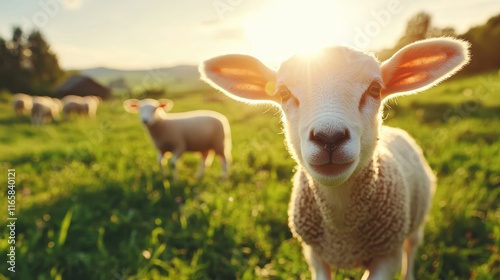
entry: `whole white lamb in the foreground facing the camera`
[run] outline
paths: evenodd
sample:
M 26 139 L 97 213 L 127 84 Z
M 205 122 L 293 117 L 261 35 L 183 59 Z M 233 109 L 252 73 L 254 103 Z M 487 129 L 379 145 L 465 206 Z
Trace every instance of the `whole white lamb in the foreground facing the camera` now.
M 202 79 L 228 96 L 281 108 L 299 165 L 289 226 L 314 279 L 330 279 L 330 266 L 364 267 L 363 279 L 392 279 L 402 264 L 404 278 L 413 278 L 435 177 L 406 132 L 381 126 L 382 105 L 453 75 L 468 62 L 468 46 L 423 40 L 383 63 L 331 47 L 294 56 L 278 71 L 246 55 L 200 66 Z

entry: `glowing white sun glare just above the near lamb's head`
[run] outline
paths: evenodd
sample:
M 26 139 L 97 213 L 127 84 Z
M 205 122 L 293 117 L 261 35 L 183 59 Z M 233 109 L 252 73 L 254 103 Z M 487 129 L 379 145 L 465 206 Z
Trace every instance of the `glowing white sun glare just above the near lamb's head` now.
M 323 1 L 320 6 L 304 2 L 276 1 L 245 20 L 252 55 L 276 63 L 293 54 L 315 53 L 342 43 L 340 26 L 345 26 L 346 15 L 335 7 L 338 3 Z

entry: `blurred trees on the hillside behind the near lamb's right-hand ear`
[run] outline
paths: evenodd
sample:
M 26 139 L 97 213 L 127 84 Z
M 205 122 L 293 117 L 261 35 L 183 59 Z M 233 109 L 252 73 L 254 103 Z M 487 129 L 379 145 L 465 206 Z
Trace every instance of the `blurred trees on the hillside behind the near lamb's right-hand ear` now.
M 461 38 L 472 44 L 472 60 L 459 72 L 459 75 L 500 69 L 500 15 L 492 17 L 485 24 L 472 27 L 460 35 L 456 34 L 452 27 L 438 28 L 433 26 L 431 16 L 420 12 L 408 21 L 404 35 L 396 45 L 393 48 L 379 51 L 377 55 L 381 61 L 384 61 L 407 44 L 441 36 Z

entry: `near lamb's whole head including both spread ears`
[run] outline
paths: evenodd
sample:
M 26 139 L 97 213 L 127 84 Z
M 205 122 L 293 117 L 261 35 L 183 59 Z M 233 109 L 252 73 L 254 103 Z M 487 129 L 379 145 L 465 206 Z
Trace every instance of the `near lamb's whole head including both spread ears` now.
M 467 48 L 453 39 L 424 40 L 380 64 L 362 52 L 332 47 L 294 56 L 277 72 L 253 57 L 226 55 L 204 62 L 200 72 L 230 97 L 278 105 L 295 159 L 319 183 L 336 186 L 372 158 L 384 100 L 448 78 L 467 63 Z

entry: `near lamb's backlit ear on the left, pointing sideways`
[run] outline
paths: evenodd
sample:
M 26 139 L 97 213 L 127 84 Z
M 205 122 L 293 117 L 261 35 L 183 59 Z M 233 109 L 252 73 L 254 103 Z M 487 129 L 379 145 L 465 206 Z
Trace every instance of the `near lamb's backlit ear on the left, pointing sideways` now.
M 248 55 L 224 55 L 200 64 L 201 79 L 229 97 L 245 102 L 273 101 L 276 71 Z

